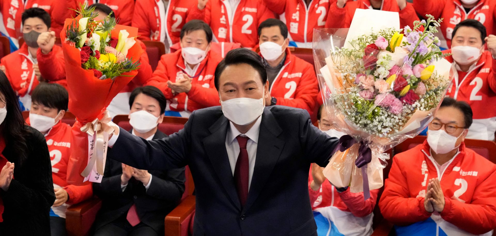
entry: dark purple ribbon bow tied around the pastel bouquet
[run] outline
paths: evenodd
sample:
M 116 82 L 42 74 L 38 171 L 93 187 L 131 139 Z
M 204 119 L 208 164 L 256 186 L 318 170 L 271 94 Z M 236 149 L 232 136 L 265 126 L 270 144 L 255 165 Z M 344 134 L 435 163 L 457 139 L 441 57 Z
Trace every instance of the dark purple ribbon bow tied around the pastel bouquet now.
M 351 148 L 354 144 L 358 143 L 350 135 L 343 135 L 339 138 L 339 151 L 344 152 L 348 148 Z M 367 175 L 367 164 L 372 161 L 372 150 L 369 147 L 368 143 L 364 141 L 360 141 L 360 148 L 358 149 L 358 158 L 355 160 L 355 166 L 362 170 L 362 178 L 364 182 L 364 199 L 367 200 L 371 197 L 370 189 L 369 189 L 369 176 Z

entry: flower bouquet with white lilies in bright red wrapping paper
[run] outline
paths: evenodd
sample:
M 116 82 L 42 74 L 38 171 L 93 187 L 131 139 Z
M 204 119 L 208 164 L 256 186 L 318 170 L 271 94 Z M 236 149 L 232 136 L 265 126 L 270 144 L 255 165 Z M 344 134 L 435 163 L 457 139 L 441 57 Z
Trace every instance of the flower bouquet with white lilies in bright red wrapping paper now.
M 79 15 L 66 19 L 61 32 L 68 108 L 76 117 L 67 164 L 67 183 L 74 185 L 101 182 L 108 138 L 119 132 L 106 108 L 137 74 L 143 53 L 134 41 L 137 28 L 111 17 L 96 21 L 93 11 L 79 5 Z

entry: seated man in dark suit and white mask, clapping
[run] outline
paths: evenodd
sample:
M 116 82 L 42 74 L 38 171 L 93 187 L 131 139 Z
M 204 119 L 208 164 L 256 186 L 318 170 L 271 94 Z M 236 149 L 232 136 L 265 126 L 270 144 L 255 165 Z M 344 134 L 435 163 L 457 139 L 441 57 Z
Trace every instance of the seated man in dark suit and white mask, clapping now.
M 153 86 L 134 89 L 129 98 L 133 128 L 126 134 L 144 140 L 167 138 L 158 130 L 166 103 L 162 92 Z M 184 190 L 184 167 L 148 172 L 107 159 L 102 182 L 93 185 L 103 200 L 95 236 L 163 235 L 164 218 L 178 205 Z

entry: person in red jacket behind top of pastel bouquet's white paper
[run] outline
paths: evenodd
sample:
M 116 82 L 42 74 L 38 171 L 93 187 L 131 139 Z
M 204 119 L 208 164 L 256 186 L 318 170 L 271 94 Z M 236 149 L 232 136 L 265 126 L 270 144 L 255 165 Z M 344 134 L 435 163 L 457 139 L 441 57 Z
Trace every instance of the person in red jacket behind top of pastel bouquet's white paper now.
M 329 7 L 325 28 L 349 28 L 357 9 L 398 12 L 401 28 L 407 25 L 413 27 L 413 22 L 419 20 L 412 3 L 406 0 L 337 0 Z

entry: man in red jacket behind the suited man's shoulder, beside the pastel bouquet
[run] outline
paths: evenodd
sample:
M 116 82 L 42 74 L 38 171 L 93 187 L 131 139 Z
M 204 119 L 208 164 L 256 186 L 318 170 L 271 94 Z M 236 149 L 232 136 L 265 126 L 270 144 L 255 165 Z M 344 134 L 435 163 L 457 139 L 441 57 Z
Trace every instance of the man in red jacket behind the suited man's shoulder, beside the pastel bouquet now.
M 278 19 L 258 26 L 259 55 L 265 60 L 270 96 L 265 106 L 282 105 L 305 109 L 310 116 L 316 104 L 318 82 L 313 66 L 288 49 L 288 27 Z

